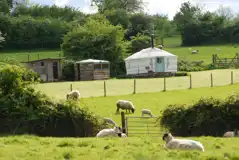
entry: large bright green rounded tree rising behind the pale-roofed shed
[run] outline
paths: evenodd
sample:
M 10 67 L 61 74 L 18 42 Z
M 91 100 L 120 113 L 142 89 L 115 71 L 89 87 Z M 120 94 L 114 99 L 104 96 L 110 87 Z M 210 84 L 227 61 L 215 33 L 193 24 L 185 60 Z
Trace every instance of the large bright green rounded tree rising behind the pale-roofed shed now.
M 123 30 L 103 16 L 89 18 L 84 26 L 68 32 L 61 45 L 65 56 L 115 61 L 122 55 Z

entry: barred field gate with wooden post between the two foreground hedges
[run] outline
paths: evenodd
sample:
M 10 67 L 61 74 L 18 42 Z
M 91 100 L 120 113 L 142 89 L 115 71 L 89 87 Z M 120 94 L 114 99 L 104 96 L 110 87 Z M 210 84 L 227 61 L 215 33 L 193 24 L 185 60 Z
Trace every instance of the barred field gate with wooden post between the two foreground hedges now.
M 125 113 L 121 112 L 121 124 L 123 132 L 130 137 L 145 135 L 159 137 L 162 135 L 157 124 L 157 117 L 125 116 Z

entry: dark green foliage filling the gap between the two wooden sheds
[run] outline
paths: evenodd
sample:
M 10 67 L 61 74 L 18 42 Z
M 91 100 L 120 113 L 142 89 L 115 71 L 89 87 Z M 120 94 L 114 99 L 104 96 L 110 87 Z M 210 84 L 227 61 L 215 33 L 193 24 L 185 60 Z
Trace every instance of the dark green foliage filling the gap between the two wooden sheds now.
M 62 76 L 64 80 L 73 81 L 75 79 L 75 61 L 64 60 L 62 67 Z

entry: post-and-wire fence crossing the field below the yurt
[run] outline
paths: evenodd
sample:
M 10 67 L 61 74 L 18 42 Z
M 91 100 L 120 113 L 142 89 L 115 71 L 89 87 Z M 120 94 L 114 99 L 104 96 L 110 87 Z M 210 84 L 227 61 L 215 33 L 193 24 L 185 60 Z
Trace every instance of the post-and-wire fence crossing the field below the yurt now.
M 239 82 L 239 70 L 192 72 L 188 76 L 76 81 L 70 90 L 80 90 L 82 97 L 127 95 L 147 92 L 167 92 L 201 87 L 232 85 Z M 68 83 L 69 84 L 69 83 Z M 68 90 L 69 91 L 69 90 Z

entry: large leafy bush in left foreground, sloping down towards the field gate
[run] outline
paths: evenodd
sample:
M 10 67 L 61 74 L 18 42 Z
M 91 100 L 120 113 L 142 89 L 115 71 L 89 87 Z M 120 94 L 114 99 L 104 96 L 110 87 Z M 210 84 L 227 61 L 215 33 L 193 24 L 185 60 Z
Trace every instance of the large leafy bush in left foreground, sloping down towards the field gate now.
M 0 133 L 39 136 L 95 136 L 101 118 L 77 102 L 54 102 L 35 91 L 32 71 L 17 65 L 0 68 Z

